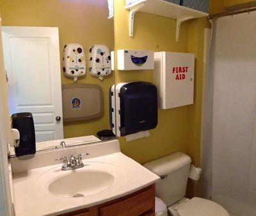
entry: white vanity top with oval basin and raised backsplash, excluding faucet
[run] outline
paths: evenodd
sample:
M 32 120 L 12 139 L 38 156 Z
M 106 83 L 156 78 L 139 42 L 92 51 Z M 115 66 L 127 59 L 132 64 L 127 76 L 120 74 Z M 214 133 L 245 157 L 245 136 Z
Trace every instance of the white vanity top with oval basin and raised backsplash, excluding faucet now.
M 88 152 L 84 167 L 61 170 L 59 157 Z M 154 184 L 159 176 L 120 152 L 118 140 L 91 143 L 12 162 L 15 215 L 61 215 L 106 203 Z

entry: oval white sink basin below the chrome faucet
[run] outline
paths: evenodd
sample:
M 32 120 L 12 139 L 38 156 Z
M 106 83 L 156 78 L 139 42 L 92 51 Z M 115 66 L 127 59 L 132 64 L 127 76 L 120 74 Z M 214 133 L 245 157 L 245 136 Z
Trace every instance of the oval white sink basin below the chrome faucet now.
M 113 175 L 103 171 L 83 170 L 60 176 L 49 185 L 49 191 L 64 198 L 81 198 L 102 192 L 113 184 Z

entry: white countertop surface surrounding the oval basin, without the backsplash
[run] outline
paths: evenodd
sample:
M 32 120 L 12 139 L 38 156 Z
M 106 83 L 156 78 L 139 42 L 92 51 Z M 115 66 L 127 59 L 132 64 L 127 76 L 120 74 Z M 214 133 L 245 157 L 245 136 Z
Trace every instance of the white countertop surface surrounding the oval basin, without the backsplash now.
M 98 164 L 97 166 L 100 166 L 99 164 L 102 162 L 102 168 L 104 168 L 104 164 L 111 164 L 111 166 L 106 166 L 106 169 L 109 169 L 106 171 L 116 176 L 114 183 L 105 191 L 92 196 L 63 198 L 55 196 L 47 190 L 42 191 L 41 189 L 40 191 L 38 186 L 36 186 L 38 185 L 37 181 L 40 176 L 49 170 L 54 170 L 56 175 L 61 175 L 62 173 L 78 171 L 79 169 L 90 169 L 90 166 L 86 167 L 85 165 L 84 168 L 62 171 L 61 164 L 54 164 L 52 166 L 42 166 L 40 168 L 19 171 L 13 173 L 15 215 L 39 216 L 72 212 L 131 194 L 159 180 L 159 176 L 148 171 L 148 169 L 121 152 L 84 159 L 83 162 L 84 164 Z M 40 181 L 42 182 L 42 178 Z M 48 184 L 47 181 L 49 182 L 48 177 L 45 178 L 46 185 Z

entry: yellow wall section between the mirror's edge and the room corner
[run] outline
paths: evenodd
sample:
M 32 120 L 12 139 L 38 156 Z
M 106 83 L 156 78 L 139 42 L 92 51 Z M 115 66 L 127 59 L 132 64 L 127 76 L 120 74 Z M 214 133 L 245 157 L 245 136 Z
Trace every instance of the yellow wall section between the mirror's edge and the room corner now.
M 134 37 L 129 37 L 129 12 L 124 1 L 115 1 L 115 51 L 144 49 L 154 51 L 188 52 L 187 25 L 182 24 L 180 41 L 175 42 L 175 20 L 147 13 L 136 13 Z M 116 83 L 131 80 L 153 82 L 153 71 L 115 71 Z M 120 138 L 121 150 L 141 164 L 178 150 L 187 152 L 188 107 L 159 110 L 158 125 L 150 136 L 126 142 Z

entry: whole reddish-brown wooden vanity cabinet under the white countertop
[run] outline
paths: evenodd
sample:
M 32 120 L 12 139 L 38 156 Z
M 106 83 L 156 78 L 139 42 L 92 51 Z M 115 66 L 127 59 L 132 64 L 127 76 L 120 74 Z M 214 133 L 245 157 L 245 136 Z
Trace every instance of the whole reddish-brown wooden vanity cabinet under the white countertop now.
M 155 185 L 145 187 L 122 198 L 61 216 L 154 216 Z

